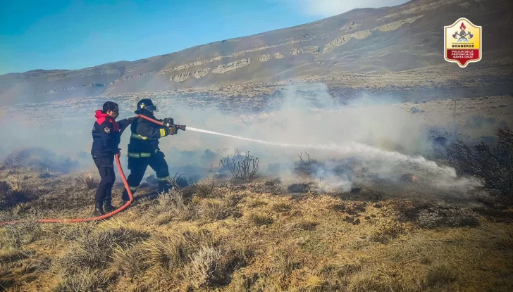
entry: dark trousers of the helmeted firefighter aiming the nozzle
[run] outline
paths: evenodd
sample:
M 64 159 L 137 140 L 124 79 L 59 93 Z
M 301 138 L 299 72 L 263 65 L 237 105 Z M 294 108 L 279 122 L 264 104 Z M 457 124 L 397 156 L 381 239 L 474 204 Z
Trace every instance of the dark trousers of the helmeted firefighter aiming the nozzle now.
M 168 163 L 164 159 L 164 153 L 158 151 L 157 153 L 152 154 L 148 158 L 132 158 L 128 157 L 128 169 L 130 170 L 130 175 L 126 179 L 128 182 L 128 186 L 130 186 L 130 191 L 135 193 L 137 191 L 137 187 L 142 181 L 142 177 L 144 177 L 144 172 L 146 172 L 146 168 L 152 167 L 152 169 L 156 172 L 156 179 L 159 181 L 159 192 L 168 191 L 171 189 L 171 186 L 168 183 L 169 179 L 169 167 Z M 123 201 L 128 201 L 130 198 L 128 197 L 128 191 L 123 191 Z

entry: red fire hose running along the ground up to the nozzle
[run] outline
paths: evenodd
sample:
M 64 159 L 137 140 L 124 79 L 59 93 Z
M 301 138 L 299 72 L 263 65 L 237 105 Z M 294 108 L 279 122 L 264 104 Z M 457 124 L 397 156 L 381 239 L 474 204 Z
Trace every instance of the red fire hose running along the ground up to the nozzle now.
M 157 125 L 163 125 L 162 122 L 159 122 L 158 120 L 154 120 L 152 118 L 148 118 L 144 115 L 136 115 L 134 118 L 143 118 L 144 120 L 149 120 L 150 122 L 154 122 Z M 127 125 L 128 126 L 128 125 Z M 123 132 L 125 128 L 121 129 L 120 132 Z M 121 164 L 119 162 L 119 155 L 115 155 L 114 158 L 116 158 L 116 165 L 118 165 L 118 170 L 121 179 L 123 179 L 123 184 L 125 184 L 125 189 L 128 191 L 128 197 L 130 198 L 130 201 L 125 203 L 125 205 L 122 205 L 120 208 L 113 210 L 110 213 L 107 213 L 105 215 L 101 215 L 99 217 L 90 217 L 90 218 L 79 218 L 79 219 L 36 219 L 35 222 L 40 223 L 78 223 L 78 222 L 89 222 L 89 221 L 96 221 L 96 220 L 103 220 L 105 218 L 109 218 L 113 215 L 118 214 L 118 212 L 121 212 L 128 208 L 128 206 L 134 201 L 134 197 L 132 195 L 132 191 L 130 191 L 130 186 L 128 186 L 128 182 L 126 181 L 125 173 L 123 172 L 123 168 L 121 168 Z M 7 224 L 16 224 L 16 223 L 23 223 L 27 222 L 27 220 L 13 220 L 13 221 L 5 221 L 0 222 L 0 226 L 7 225 Z

